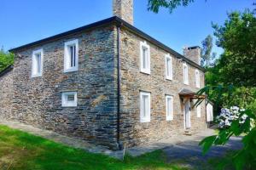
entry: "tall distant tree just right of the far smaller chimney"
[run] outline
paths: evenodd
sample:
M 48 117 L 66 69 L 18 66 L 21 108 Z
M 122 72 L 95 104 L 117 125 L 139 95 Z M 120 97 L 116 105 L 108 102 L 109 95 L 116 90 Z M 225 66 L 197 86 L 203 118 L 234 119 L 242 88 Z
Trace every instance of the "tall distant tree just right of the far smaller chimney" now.
M 208 67 L 212 59 L 215 59 L 216 53 L 212 53 L 212 36 L 208 35 L 202 42 L 201 65 Z

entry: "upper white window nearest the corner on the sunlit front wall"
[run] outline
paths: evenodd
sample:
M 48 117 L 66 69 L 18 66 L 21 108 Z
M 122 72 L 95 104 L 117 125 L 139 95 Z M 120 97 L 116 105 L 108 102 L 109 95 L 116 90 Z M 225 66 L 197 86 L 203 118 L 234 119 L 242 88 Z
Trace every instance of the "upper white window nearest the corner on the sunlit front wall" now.
M 150 48 L 147 42 L 141 42 L 141 71 L 150 74 Z

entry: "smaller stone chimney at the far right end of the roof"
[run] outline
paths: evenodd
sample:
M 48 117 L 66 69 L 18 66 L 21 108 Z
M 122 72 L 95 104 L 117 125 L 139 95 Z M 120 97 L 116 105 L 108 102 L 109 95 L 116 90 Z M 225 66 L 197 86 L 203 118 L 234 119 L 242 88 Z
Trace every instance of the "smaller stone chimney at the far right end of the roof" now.
M 183 55 L 196 64 L 201 65 L 201 48 L 199 46 L 183 48 Z

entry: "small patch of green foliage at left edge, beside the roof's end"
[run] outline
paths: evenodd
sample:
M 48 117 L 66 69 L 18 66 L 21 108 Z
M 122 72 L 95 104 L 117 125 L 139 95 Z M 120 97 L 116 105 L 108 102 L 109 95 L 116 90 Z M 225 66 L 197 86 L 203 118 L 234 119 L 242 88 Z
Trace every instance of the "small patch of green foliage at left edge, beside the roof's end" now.
M 4 52 L 3 48 L 0 50 L 0 72 L 3 71 L 9 65 L 14 63 L 15 55 Z

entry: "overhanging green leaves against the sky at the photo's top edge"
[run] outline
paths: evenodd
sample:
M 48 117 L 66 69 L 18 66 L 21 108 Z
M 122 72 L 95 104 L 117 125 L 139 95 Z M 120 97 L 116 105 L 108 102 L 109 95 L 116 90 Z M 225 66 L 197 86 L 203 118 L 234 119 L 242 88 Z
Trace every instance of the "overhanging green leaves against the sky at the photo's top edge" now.
M 160 8 L 168 8 L 170 13 L 179 6 L 188 6 L 194 0 L 148 0 L 148 10 L 158 13 Z

